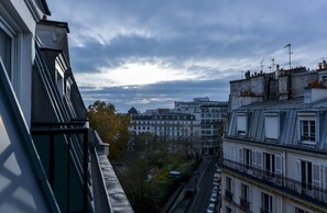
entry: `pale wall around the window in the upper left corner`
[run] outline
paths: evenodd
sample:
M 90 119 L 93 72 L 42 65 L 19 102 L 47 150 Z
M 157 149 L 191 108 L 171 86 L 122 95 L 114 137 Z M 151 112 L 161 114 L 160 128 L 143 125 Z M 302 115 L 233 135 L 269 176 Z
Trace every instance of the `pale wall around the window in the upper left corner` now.
M 29 4 L 29 7 L 28 7 Z M 3 0 L 0 2 L 1 29 L 12 36 L 11 82 L 24 113 L 31 124 L 31 85 L 34 60 L 34 41 L 36 21 L 43 15 L 34 8 L 34 1 Z

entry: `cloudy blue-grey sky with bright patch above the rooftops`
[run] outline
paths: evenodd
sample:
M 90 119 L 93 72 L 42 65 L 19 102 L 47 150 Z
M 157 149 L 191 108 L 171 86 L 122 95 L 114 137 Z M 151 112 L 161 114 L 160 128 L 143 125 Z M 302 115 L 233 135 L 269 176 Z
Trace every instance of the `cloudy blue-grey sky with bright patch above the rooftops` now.
M 72 68 L 86 105 L 126 112 L 197 97 L 228 100 L 229 81 L 314 69 L 327 58 L 326 0 L 47 0 L 69 24 Z

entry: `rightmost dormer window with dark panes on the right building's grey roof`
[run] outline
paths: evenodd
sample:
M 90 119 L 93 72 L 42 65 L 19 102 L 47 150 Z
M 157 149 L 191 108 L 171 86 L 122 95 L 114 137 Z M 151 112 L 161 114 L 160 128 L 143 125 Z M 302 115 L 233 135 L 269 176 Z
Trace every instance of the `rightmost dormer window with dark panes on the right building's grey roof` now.
M 299 141 L 303 144 L 315 145 L 317 142 L 317 122 L 315 113 L 298 113 Z

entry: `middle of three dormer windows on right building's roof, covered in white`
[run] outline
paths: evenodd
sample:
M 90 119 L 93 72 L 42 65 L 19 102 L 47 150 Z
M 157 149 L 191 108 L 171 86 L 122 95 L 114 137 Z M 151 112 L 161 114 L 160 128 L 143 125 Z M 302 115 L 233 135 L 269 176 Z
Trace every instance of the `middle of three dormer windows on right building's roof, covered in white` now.
M 276 113 L 265 113 L 264 114 L 264 132 L 265 137 L 271 139 L 279 138 L 279 116 Z

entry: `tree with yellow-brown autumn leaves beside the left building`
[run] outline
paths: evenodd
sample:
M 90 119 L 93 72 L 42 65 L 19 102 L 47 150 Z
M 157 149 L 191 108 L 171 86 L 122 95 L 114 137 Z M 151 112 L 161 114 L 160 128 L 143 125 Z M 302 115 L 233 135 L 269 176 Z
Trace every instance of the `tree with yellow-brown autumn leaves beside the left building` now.
M 110 144 L 111 159 L 127 150 L 130 116 L 117 114 L 113 104 L 96 101 L 88 107 L 90 126 L 98 132 L 105 143 Z

